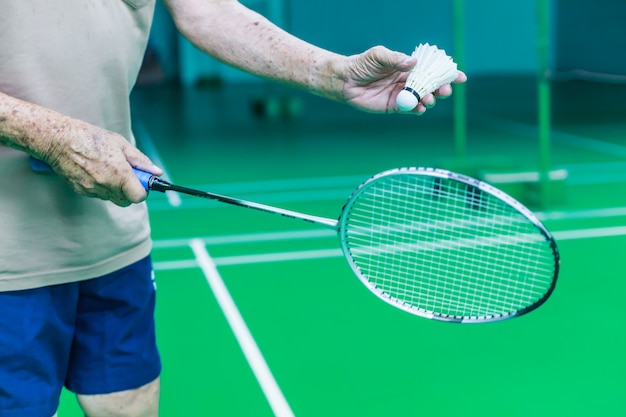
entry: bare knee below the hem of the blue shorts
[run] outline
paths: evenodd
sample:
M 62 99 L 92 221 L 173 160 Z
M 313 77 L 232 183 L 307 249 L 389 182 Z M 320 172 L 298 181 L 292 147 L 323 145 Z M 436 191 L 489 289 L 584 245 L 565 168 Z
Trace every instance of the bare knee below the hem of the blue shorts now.
M 99 395 L 78 395 L 88 417 L 157 417 L 160 379 L 128 391 Z

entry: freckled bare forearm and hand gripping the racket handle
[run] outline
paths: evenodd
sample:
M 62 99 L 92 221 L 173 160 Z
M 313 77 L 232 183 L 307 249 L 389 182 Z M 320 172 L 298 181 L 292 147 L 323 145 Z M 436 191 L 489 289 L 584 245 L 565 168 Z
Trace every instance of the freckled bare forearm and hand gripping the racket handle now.
M 131 166 L 161 173 L 121 135 L 1 92 L 0 145 L 47 162 L 79 194 L 120 206 L 147 196 Z

